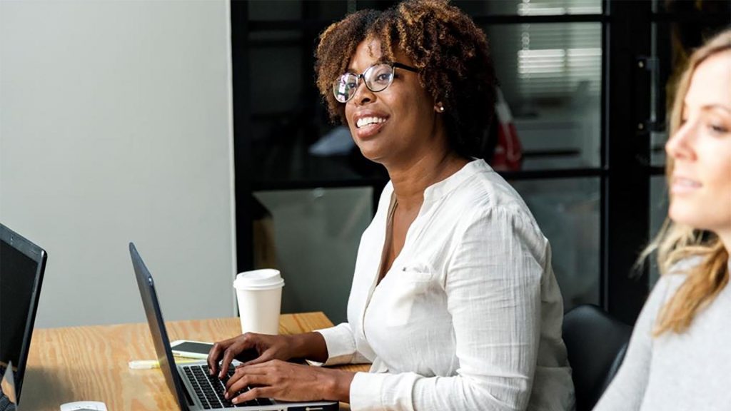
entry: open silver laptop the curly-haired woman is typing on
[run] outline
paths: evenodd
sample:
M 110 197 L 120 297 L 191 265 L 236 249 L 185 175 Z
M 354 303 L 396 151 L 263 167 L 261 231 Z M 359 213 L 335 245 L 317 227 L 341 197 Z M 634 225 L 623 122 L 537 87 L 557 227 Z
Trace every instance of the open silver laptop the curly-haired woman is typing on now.
M 170 349 L 170 339 L 162 320 L 162 312 L 157 300 L 155 283 L 145 263 L 137 253 L 135 244 L 129 243 L 129 254 L 132 265 L 135 267 L 137 286 L 140 287 L 140 296 L 145 307 L 145 315 L 150 326 L 150 333 L 155 345 L 157 361 L 164 374 L 165 382 L 170 391 L 178 398 L 181 410 L 248 410 L 248 411 L 330 411 L 338 410 L 337 401 L 309 401 L 285 402 L 275 399 L 254 399 L 244 404 L 233 405 L 224 399 L 225 381 L 216 376 L 208 375 L 208 363 L 176 364 L 173 351 Z M 233 367 L 229 369 L 229 377 L 233 374 Z M 248 389 L 248 388 L 247 388 Z

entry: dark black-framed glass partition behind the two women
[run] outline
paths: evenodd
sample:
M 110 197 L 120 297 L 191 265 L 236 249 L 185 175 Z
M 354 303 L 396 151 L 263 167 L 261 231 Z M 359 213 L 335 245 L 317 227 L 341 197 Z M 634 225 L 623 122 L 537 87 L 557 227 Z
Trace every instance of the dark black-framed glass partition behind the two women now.
M 327 120 L 314 87 L 317 36 L 348 12 L 392 4 L 232 3 L 235 138 L 247 159 L 245 170 L 241 157 L 236 162 L 246 179 L 239 210 L 251 193 L 238 218 L 253 224 L 240 222 L 238 235 L 239 244 L 254 244 L 253 254 L 238 249 L 239 266 L 281 268 L 286 310 L 324 309 L 345 320 L 360 233 L 387 181 L 347 129 Z M 667 210 L 673 75 L 689 50 L 729 24 L 730 2 L 452 4 L 487 34 L 515 127 L 500 140 L 496 120 L 483 157 L 518 189 L 550 240 L 564 309 L 595 303 L 631 323 L 657 277 L 632 264 Z M 520 160 L 506 161 L 506 143 L 516 142 Z

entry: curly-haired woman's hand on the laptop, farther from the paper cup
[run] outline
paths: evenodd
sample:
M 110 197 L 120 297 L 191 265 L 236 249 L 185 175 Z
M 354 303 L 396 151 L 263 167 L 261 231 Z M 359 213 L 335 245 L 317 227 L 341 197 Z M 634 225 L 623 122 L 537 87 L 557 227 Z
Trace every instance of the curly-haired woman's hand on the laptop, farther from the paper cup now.
M 262 397 L 282 401 L 349 401 L 354 376 L 352 372 L 280 360 L 242 365 L 226 383 L 226 398 L 234 404 Z M 235 396 L 246 387 L 251 390 Z

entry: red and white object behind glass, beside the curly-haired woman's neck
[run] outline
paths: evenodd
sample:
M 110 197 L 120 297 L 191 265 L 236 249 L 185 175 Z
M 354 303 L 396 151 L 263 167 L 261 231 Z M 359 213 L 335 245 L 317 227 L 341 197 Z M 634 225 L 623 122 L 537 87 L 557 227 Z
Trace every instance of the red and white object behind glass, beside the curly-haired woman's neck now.
M 495 113 L 498 121 L 498 142 L 491 162 L 491 167 L 501 171 L 518 171 L 523 163 L 523 146 L 518 138 L 518 131 L 512 122 L 512 113 L 505 102 L 502 91 L 497 88 Z

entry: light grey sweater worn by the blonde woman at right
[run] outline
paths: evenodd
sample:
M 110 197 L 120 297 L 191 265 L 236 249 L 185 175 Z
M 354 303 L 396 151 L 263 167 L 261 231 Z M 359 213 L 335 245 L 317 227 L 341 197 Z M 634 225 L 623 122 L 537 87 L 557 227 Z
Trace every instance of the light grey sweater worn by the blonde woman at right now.
M 594 411 L 731 410 L 731 287 L 685 333 L 652 336 L 659 310 L 685 279 L 670 274 L 657 282 L 624 363 Z

